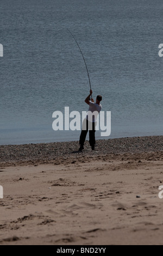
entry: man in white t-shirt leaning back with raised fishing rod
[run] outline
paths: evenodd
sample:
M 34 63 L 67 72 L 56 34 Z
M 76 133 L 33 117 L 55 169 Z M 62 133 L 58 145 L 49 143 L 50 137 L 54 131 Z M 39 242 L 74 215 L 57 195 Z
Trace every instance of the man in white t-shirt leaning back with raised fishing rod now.
M 90 97 L 92 95 L 92 90 L 90 90 L 90 95 L 87 96 L 87 98 L 85 99 L 85 103 L 87 103 L 87 105 L 89 105 L 89 112 L 87 114 L 86 119 L 83 122 L 83 127 L 82 127 L 82 132 L 80 135 L 80 148 L 79 151 L 82 152 L 82 150 L 84 149 L 84 143 L 85 143 L 85 139 L 86 139 L 86 135 L 87 132 L 89 131 L 89 135 L 90 135 L 90 146 L 92 147 L 92 150 L 95 150 L 95 144 L 96 144 L 96 139 L 95 139 L 95 132 L 96 132 L 96 120 L 97 120 L 97 115 L 99 114 L 99 112 L 102 109 L 102 106 L 100 104 L 100 102 L 102 101 L 102 96 L 98 95 L 97 99 L 96 99 L 96 103 L 94 102 L 93 99 L 91 99 L 90 101 Z M 91 115 L 92 118 L 90 118 L 89 113 L 95 113 L 95 115 Z M 97 114 L 96 114 L 97 113 Z

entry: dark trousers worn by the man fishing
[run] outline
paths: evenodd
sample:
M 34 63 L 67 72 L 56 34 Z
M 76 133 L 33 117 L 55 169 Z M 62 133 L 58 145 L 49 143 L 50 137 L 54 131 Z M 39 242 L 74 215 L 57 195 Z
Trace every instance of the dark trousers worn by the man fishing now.
M 89 129 L 90 125 L 92 126 L 91 129 Z M 86 130 L 84 129 L 84 127 L 85 127 Z M 89 131 L 89 135 L 90 135 L 90 141 L 89 141 L 90 146 L 94 147 L 96 145 L 96 139 L 95 139 L 96 123 L 90 123 L 87 119 L 85 119 L 83 121 L 83 127 L 82 127 L 82 132 L 81 132 L 81 135 L 80 135 L 79 144 L 84 146 L 86 135 L 87 135 L 88 131 Z

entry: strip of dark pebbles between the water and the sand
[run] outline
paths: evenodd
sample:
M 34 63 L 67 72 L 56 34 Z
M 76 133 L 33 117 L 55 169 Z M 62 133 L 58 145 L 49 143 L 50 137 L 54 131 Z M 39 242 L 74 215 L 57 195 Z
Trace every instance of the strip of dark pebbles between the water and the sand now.
M 163 152 L 163 136 L 126 137 L 101 139 L 92 151 L 89 142 L 85 143 L 83 153 L 78 152 L 79 142 L 54 142 L 0 146 L 0 167 L 26 164 L 65 163 L 106 155 L 142 154 Z

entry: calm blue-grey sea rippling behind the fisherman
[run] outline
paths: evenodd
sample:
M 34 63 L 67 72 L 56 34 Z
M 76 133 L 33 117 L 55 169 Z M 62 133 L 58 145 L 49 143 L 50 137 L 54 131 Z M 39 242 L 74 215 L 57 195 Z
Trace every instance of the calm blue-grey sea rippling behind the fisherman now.
M 0 144 L 78 139 L 52 130 L 54 111 L 87 110 L 85 65 L 65 26 L 111 111 L 110 138 L 162 135 L 162 13 L 162 0 L 1 0 Z

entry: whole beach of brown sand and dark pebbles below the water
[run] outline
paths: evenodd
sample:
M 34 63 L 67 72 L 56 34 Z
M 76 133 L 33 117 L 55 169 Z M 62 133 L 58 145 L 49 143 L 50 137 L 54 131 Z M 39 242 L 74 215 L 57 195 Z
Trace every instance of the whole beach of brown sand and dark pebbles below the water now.
M 163 136 L 0 146 L 0 245 L 162 245 Z

